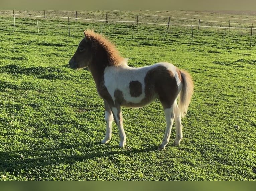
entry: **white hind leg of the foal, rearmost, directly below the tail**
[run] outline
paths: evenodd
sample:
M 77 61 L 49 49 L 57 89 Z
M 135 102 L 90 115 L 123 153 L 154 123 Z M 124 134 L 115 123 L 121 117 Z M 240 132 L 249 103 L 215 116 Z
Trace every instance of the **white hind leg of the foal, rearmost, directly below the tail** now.
M 179 111 L 177 101 L 174 101 L 173 110 L 175 114 L 174 121 L 176 126 L 176 138 L 174 141 L 174 145 L 179 145 L 181 139 L 183 138 L 183 135 L 182 135 L 182 125 L 181 125 L 181 113 Z

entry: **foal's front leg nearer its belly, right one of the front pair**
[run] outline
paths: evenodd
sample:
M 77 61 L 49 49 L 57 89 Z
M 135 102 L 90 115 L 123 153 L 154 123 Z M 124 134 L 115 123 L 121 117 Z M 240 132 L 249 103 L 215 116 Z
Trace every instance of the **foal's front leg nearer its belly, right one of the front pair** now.
M 112 107 L 112 112 L 114 114 L 115 122 L 118 126 L 119 137 L 120 137 L 119 147 L 124 147 L 126 142 L 126 135 L 123 127 L 123 116 L 122 116 L 121 107 L 120 106 Z

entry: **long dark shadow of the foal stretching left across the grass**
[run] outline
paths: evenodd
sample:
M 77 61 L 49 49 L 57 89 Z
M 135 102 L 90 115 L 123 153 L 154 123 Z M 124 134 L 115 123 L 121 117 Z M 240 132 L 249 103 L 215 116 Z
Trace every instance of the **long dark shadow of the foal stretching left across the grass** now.
M 77 150 L 73 154 L 66 155 L 67 150 Z M 145 153 L 156 151 L 156 146 L 144 147 L 143 149 L 134 149 L 130 147 L 119 148 L 110 144 L 101 144 L 100 141 L 88 142 L 83 144 L 83 147 L 75 148 L 74 145 L 60 144 L 56 148 L 40 149 L 23 149 L 15 151 L 2 151 L 0 152 L 0 172 L 9 172 L 10 174 L 17 175 L 22 170 L 40 168 L 54 164 L 70 164 L 77 161 L 85 161 L 87 159 L 111 157 L 116 154 L 133 155 L 135 153 Z M 75 153 L 75 154 L 74 154 Z

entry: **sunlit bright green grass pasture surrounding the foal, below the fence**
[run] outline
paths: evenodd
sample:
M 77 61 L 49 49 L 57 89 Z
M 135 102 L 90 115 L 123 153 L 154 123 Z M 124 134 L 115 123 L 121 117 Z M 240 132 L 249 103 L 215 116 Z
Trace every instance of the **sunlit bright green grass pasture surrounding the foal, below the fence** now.
M 237 15 L 239 17 L 239 15 Z M 256 47 L 250 31 L 0 17 L 0 180 L 256 180 Z M 188 71 L 195 93 L 183 140 L 157 151 L 165 132 L 158 100 L 123 108 L 127 136 L 113 123 L 91 74 L 68 62 L 94 28 L 132 67 L 166 61 Z M 164 40 L 163 40 L 164 39 Z M 238 125 L 238 127 L 235 127 Z

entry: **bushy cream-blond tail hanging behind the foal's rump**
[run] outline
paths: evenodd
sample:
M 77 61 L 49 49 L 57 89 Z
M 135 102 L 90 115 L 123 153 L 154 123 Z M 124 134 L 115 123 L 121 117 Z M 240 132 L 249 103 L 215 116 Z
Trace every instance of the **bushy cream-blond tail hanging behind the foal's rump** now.
M 182 89 L 179 95 L 179 111 L 181 113 L 181 117 L 184 117 L 187 113 L 187 108 L 190 103 L 191 97 L 193 95 L 194 84 L 192 81 L 192 77 L 190 74 L 183 70 L 179 70 L 182 78 Z

